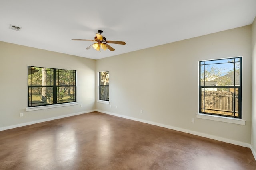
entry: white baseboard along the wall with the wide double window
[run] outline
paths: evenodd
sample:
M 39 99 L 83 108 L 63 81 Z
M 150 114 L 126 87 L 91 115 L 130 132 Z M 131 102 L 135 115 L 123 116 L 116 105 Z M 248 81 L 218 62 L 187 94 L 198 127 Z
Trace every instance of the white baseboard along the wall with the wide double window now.
M 8 130 L 8 129 L 13 129 L 16 127 L 22 127 L 22 126 L 27 126 L 27 125 L 33 125 L 36 123 L 42 123 L 45 121 L 51 121 L 51 120 L 56 120 L 56 119 L 61 119 L 64 117 L 70 117 L 70 116 L 75 116 L 75 115 L 81 115 L 81 114 L 85 114 L 85 113 L 90 113 L 96 110 L 88 110 L 88 111 L 82 111 L 82 112 L 78 112 L 78 113 L 72 113 L 72 114 L 68 114 L 68 115 L 61 115 L 61 116 L 57 116 L 57 117 L 50 117 L 47 119 L 40 119 L 40 120 L 36 120 L 36 121 L 30 121 L 30 122 L 26 122 L 26 123 L 20 123 L 17 125 L 11 125 L 11 126 L 6 126 L 6 127 L 0 127 L 0 131 L 4 131 L 4 130 Z

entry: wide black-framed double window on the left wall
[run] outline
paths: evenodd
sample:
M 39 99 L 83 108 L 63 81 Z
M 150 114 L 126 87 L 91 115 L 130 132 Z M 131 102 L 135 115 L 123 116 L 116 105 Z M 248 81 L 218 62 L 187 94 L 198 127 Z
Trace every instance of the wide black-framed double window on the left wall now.
M 28 107 L 76 102 L 76 71 L 28 66 Z

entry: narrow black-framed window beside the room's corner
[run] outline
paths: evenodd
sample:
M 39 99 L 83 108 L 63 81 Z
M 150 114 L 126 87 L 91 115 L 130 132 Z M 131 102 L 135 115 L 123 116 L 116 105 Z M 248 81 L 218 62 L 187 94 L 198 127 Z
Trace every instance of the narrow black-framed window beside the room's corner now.
M 99 100 L 109 101 L 109 94 L 108 94 L 108 78 L 109 74 L 108 71 L 99 72 Z

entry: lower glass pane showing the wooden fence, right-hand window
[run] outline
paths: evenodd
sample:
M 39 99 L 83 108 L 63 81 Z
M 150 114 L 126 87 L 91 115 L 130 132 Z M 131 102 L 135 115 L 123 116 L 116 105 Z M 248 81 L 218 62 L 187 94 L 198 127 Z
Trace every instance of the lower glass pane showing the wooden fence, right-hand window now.
M 238 116 L 238 89 L 202 88 L 201 98 L 202 112 Z

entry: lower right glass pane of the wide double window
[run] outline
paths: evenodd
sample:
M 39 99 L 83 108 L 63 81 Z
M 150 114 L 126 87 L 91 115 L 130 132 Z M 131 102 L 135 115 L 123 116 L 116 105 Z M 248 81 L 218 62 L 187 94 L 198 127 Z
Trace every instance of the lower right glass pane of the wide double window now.
M 57 87 L 57 103 L 75 101 L 75 87 Z

